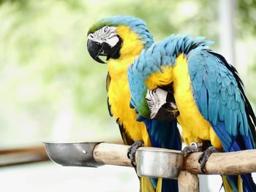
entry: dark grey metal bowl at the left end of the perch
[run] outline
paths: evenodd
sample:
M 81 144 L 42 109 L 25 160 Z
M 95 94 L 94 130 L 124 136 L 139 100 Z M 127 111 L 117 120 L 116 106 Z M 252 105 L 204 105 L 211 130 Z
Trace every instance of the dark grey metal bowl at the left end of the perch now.
M 44 142 L 50 160 L 63 166 L 100 166 L 94 161 L 94 147 L 99 142 Z

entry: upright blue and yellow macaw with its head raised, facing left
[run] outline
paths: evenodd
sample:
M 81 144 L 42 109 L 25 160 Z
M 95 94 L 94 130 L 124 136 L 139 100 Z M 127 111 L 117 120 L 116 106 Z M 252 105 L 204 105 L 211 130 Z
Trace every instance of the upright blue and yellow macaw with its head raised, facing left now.
M 177 121 L 143 121 L 130 105 L 127 69 L 153 45 L 146 23 L 130 16 L 116 16 L 99 20 L 89 28 L 87 47 L 95 61 L 104 64 L 99 56 L 106 56 L 108 66 L 107 91 L 110 115 L 118 123 L 124 144 L 142 141 L 145 146 L 181 150 Z M 140 191 L 178 191 L 177 180 L 140 177 Z

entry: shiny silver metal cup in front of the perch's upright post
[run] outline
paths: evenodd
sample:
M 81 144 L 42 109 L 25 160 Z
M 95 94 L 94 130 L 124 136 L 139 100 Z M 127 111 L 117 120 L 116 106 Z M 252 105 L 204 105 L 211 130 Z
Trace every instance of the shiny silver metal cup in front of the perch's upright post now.
M 138 148 L 137 174 L 146 177 L 176 179 L 183 165 L 183 154 L 177 150 L 154 147 Z

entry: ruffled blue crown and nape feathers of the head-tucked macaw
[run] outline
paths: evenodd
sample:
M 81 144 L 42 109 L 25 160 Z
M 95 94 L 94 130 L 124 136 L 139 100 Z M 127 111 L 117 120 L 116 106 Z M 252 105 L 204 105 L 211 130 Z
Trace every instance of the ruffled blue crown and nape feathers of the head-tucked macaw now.
M 165 74 L 164 67 L 175 66 L 176 57 L 179 54 L 188 54 L 191 50 L 202 49 L 211 45 L 212 42 L 202 42 L 203 39 L 205 38 L 192 39 L 189 36 L 170 36 L 162 42 L 153 44 L 148 50 L 143 50 L 140 57 L 135 59 L 132 66 L 129 66 L 128 78 L 132 100 L 141 115 L 145 118 L 149 118 L 150 115 L 145 99 L 147 90 L 145 80 L 151 74 L 158 72 Z M 156 83 L 156 87 L 157 85 L 159 84 Z

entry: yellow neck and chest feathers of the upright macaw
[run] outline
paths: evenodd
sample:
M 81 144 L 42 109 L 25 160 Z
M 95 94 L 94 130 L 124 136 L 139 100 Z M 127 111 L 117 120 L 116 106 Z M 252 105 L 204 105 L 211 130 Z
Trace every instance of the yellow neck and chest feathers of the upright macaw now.
M 118 26 L 118 35 L 123 39 L 120 58 L 108 61 L 108 72 L 111 77 L 108 88 L 110 110 L 115 119 L 124 126 L 125 131 L 133 140 L 142 140 L 146 146 L 151 146 L 146 126 L 138 122 L 138 115 L 129 107 L 131 99 L 127 69 L 135 57 L 143 50 L 143 42 L 138 35 L 129 30 L 127 26 Z

